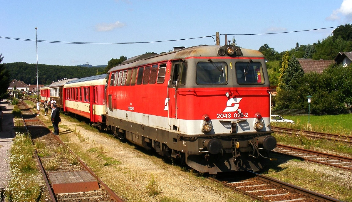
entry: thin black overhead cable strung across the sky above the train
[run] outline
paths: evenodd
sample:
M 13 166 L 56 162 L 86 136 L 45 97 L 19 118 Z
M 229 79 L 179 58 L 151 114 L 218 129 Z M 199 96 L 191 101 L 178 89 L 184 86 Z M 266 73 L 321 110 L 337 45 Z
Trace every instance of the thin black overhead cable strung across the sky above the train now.
M 339 26 L 335 27 L 325 27 L 325 28 L 320 28 L 320 29 L 311 29 L 311 30 L 300 30 L 300 31 L 290 31 L 290 32 L 275 32 L 275 33 L 258 33 L 258 34 L 227 34 L 227 35 L 264 35 L 264 34 L 283 34 L 283 33 L 293 33 L 293 32 L 306 32 L 306 31 L 313 31 L 313 30 L 323 30 L 323 29 L 331 29 L 331 28 L 336 28 Z M 220 34 L 224 35 L 224 34 Z M 149 42 L 111 42 L 111 43 L 103 43 L 103 42 L 64 42 L 64 41 L 50 41 L 50 40 L 37 40 L 37 42 L 43 42 L 43 43 L 59 43 L 59 44 L 143 44 L 143 43 L 157 43 L 157 42 L 174 42 L 174 41 L 181 41 L 181 40 L 190 40 L 190 39 L 200 39 L 200 38 L 206 38 L 206 37 L 211 37 L 213 38 L 214 42 L 215 35 L 210 35 L 210 36 L 203 36 L 203 37 L 193 37 L 193 38 L 185 38 L 185 39 L 172 39 L 172 40 L 162 40 L 162 41 L 149 41 Z M 29 42 L 36 42 L 35 39 L 22 39 L 22 38 L 13 38 L 13 37 L 1 37 L 3 39 L 12 39 L 12 40 L 22 40 L 22 41 L 29 41 Z

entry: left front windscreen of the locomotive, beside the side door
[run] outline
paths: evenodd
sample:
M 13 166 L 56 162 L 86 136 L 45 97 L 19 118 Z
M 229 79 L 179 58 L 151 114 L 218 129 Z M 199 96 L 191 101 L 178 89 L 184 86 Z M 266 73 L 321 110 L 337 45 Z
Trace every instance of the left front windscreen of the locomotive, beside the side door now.
M 199 62 L 197 63 L 198 85 L 226 85 L 227 64 L 225 62 Z

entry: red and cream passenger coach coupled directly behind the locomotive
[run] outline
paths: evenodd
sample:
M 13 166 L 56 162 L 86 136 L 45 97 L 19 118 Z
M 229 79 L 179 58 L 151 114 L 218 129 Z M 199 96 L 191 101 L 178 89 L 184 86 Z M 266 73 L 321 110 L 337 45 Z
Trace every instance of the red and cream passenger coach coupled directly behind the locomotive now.
M 102 115 L 105 115 L 106 77 L 107 74 L 102 74 L 67 82 L 64 85 L 64 111 L 84 116 L 101 128 Z

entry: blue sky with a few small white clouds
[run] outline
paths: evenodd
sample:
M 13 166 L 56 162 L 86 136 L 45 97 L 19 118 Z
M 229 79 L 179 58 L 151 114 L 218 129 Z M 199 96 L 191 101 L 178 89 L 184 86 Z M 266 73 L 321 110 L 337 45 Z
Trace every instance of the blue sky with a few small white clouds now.
M 68 42 L 146 42 L 220 34 L 272 33 L 352 23 L 352 0 L 101 0 L 1 1 L 0 37 Z M 296 42 L 314 43 L 333 29 L 235 36 L 239 46 L 268 43 L 281 52 Z M 228 36 L 231 39 L 233 36 Z M 220 44 L 224 45 L 221 35 Z M 212 38 L 146 44 L 55 44 L 38 42 L 38 63 L 103 65 L 121 55 L 169 51 L 173 46 L 214 45 Z M 36 63 L 36 43 L 0 38 L 4 63 Z

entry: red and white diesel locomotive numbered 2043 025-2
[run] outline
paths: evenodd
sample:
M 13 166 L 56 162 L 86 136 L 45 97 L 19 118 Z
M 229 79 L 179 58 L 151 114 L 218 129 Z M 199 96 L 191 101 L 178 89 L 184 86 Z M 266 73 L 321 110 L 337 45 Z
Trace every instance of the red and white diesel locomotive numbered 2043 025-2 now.
M 258 171 L 276 146 L 264 56 L 201 45 L 140 55 L 109 70 L 106 124 L 200 172 Z

